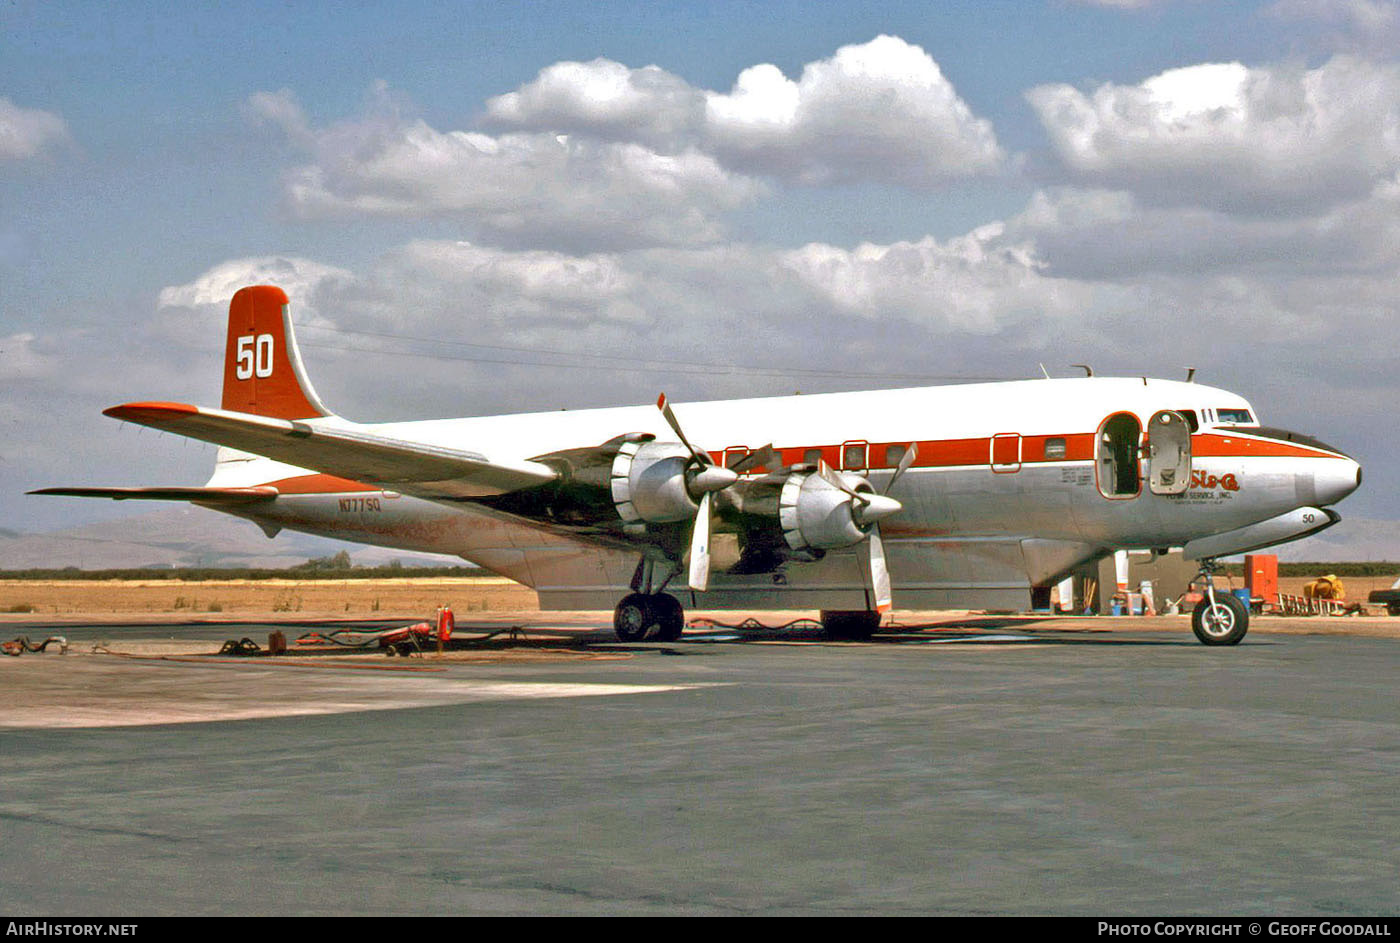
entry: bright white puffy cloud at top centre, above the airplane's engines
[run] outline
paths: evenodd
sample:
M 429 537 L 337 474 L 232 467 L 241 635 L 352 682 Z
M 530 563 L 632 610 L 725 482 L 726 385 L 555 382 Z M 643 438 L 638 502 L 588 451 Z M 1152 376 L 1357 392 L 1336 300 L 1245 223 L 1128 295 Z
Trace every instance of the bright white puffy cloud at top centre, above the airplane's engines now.
M 507 127 L 699 147 L 725 166 L 801 185 L 874 180 L 931 187 L 993 173 L 1005 154 L 938 63 L 897 36 L 840 48 L 788 78 L 745 69 L 728 92 L 657 66 L 556 63 L 487 102 Z

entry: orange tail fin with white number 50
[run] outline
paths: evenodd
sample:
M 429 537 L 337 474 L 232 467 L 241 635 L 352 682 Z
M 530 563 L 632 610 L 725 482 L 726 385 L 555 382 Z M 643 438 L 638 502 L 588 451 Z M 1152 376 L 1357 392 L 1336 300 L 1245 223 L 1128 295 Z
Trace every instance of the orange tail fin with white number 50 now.
M 228 302 L 225 410 L 279 420 L 330 414 L 307 379 L 287 306 L 287 292 L 273 285 L 239 288 Z

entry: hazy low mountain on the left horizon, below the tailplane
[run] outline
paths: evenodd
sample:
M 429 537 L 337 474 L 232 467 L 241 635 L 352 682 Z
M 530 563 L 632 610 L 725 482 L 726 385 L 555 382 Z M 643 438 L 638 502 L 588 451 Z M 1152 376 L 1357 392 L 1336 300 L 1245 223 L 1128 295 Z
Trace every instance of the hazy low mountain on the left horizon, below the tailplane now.
M 283 530 L 269 540 L 251 520 L 188 505 L 52 533 L 0 532 L 0 569 L 133 567 L 293 567 L 342 550 L 361 567 L 461 565 L 458 557 L 367 547 Z

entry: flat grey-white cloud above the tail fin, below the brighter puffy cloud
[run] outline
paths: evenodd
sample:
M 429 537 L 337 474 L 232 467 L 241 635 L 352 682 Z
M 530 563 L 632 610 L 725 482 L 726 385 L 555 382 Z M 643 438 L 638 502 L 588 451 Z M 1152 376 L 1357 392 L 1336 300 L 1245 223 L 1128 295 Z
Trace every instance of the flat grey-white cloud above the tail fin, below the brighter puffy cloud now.
M 262 94 L 248 108 L 311 151 L 312 162 L 284 180 L 287 204 L 304 218 L 447 215 L 515 245 L 686 245 L 720 238 L 721 214 L 760 192 L 694 150 L 438 132 L 382 101 L 326 129 L 311 129 L 284 94 Z

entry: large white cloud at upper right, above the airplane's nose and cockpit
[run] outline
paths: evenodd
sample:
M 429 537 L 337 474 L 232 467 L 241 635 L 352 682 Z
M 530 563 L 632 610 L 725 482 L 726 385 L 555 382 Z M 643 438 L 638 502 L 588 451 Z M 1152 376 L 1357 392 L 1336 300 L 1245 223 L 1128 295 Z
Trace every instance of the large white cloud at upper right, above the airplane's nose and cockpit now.
M 1316 211 L 1400 168 L 1400 66 L 1208 63 L 1137 85 L 1028 92 L 1075 178 L 1162 204 Z

